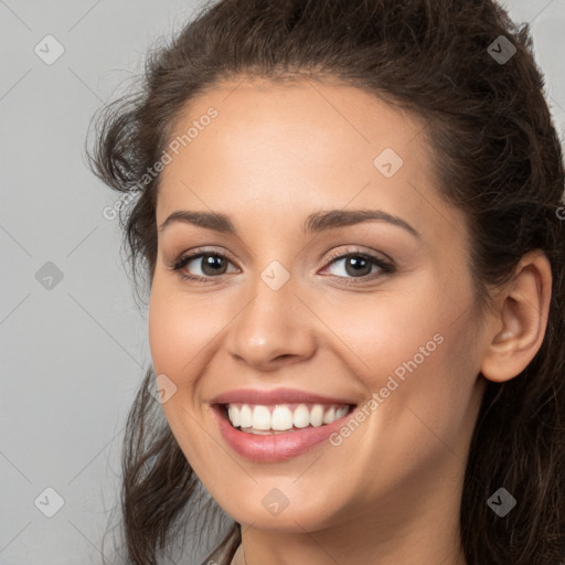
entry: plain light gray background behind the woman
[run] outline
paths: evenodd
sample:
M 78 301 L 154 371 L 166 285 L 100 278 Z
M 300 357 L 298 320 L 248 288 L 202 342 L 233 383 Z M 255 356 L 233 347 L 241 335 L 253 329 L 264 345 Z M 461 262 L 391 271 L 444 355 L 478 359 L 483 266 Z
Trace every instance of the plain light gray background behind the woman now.
M 504 6 L 532 25 L 564 139 L 565 0 Z M 111 555 L 102 541 L 118 497 L 125 417 L 150 353 L 118 220 L 103 215 L 118 195 L 89 173 L 83 148 L 95 110 L 195 7 L 0 0 L 0 564 Z M 52 64 L 34 52 L 56 53 L 55 43 L 45 47 L 49 34 L 64 47 Z M 58 510 L 46 488 L 62 498 Z M 57 512 L 47 518 L 50 510 Z

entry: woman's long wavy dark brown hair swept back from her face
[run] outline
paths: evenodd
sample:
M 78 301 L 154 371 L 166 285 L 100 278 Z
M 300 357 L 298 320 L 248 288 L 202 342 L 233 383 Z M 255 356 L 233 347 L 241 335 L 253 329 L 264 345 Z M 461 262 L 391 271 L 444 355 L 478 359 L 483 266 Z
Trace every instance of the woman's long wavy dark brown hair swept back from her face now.
M 497 57 L 500 53 L 508 58 Z M 143 174 L 161 157 L 171 125 L 192 98 L 244 75 L 332 77 L 423 117 L 438 190 L 469 222 L 473 277 L 484 307 L 487 288 L 508 280 L 525 253 L 547 255 L 553 294 L 546 334 L 520 375 L 488 382 L 466 469 L 460 527 L 469 565 L 562 565 L 564 163 L 527 25 L 513 23 L 491 0 L 205 4 L 168 44 L 150 52 L 135 95 L 104 108 L 89 154 L 106 184 L 135 194 L 121 225 L 134 275 L 148 276 L 149 284 L 159 175 L 142 182 Z M 196 533 L 207 526 L 201 509 L 194 511 L 204 500 L 200 481 L 148 393 L 152 379 L 149 369 L 128 417 L 122 457 L 124 537 L 127 563 L 135 565 L 156 563 L 177 535 L 175 524 Z M 503 519 L 487 504 L 500 487 L 518 500 Z M 209 508 L 212 514 L 221 511 L 213 501 Z M 227 550 L 222 563 L 230 563 L 241 541 L 238 524 L 231 525 L 218 545 Z

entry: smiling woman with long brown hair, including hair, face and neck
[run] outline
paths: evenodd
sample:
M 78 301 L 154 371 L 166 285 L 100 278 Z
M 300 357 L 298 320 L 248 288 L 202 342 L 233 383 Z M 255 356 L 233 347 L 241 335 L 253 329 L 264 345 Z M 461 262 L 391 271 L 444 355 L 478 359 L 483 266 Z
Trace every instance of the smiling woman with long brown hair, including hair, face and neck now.
M 93 158 L 150 290 L 128 563 L 206 530 L 201 487 L 201 563 L 565 562 L 542 86 L 490 0 L 224 0 L 152 53 Z

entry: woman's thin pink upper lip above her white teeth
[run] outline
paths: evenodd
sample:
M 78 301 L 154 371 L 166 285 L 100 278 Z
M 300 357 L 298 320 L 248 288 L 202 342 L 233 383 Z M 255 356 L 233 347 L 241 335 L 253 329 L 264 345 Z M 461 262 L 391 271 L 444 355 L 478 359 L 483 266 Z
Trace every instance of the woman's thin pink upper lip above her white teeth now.
M 322 396 L 297 388 L 237 388 L 215 396 L 211 404 L 355 404 L 347 398 Z

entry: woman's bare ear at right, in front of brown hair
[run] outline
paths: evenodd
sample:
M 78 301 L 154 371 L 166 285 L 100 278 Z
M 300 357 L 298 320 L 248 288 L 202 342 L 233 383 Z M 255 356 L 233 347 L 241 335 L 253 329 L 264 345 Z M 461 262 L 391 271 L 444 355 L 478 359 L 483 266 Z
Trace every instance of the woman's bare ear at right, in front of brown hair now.
M 504 382 L 519 375 L 540 350 L 550 312 L 552 269 L 546 255 L 524 255 L 508 288 L 497 298 L 481 373 Z

